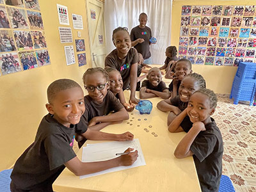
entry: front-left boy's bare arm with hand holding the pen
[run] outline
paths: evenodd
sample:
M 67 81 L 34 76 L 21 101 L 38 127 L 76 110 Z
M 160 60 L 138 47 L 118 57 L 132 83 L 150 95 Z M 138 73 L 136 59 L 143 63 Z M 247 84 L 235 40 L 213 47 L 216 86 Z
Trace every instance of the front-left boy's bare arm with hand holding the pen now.
M 131 152 L 133 148 L 127 148 L 125 152 Z M 109 159 L 107 161 L 98 161 L 91 163 L 83 163 L 78 157 L 67 161 L 65 166 L 73 172 L 75 175 L 87 175 L 90 173 L 101 172 L 103 170 L 108 170 L 116 166 L 130 166 L 138 159 L 138 150 L 131 152 L 124 156 L 116 157 L 115 159 Z

